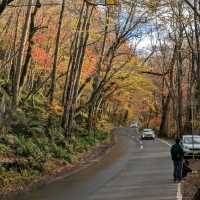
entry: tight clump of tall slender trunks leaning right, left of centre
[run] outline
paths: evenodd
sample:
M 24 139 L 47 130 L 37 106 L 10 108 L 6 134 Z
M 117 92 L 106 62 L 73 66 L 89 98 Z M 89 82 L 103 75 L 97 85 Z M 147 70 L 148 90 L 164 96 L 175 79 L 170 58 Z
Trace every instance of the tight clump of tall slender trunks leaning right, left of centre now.
M 83 67 L 83 60 L 85 56 L 85 50 L 87 41 L 89 38 L 89 28 L 91 17 L 94 7 L 83 4 L 82 12 L 77 26 L 77 34 L 75 34 L 75 40 L 73 44 L 73 50 L 70 57 L 70 65 L 68 69 L 67 92 L 64 106 L 64 113 L 62 118 L 62 126 L 66 131 L 66 136 L 71 137 L 72 127 L 74 122 L 74 114 L 76 111 L 76 101 L 78 97 L 80 78 Z M 82 22 L 82 16 L 83 22 Z

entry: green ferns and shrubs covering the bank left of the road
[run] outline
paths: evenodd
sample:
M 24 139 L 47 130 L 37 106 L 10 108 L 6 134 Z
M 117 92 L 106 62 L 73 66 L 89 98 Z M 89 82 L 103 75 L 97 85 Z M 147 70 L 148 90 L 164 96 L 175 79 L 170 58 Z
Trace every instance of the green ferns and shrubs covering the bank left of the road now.
M 0 193 L 23 189 L 45 175 L 73 167 L 93 147 L 111 141 L 111 126 L 105 121 L 90 133 L 83 122 L 69 139 L 56 117 L 46 132 L 47 117 L 45 107 L 25 107 L 4 127 L 0 134 Z

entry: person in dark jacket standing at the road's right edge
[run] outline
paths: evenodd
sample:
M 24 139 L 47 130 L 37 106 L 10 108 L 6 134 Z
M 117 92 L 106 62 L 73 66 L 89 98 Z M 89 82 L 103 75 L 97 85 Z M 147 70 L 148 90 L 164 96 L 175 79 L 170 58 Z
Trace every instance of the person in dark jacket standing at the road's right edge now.
M 184 152 L 180 145 L 180 139 L 176 138 L 176 143 L 171 147 L 171 157 L 174 163 L 174 181 L 182 180 Z

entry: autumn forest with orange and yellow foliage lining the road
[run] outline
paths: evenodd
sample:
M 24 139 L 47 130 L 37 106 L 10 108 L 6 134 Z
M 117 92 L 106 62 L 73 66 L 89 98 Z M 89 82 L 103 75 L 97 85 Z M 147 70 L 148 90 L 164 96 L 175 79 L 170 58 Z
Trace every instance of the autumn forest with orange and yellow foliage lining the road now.
M 0 0 L 0 191 L 74 165 L 114 127 L 198 131 L 199 33 L 199 0 Z

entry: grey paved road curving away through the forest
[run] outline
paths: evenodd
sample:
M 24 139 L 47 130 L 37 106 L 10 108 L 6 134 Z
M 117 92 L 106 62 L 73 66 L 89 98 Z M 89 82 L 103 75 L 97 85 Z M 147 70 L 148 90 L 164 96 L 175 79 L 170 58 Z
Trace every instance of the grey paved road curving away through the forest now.
M 175 200 L 169 147 L 139 145 L 134 129 L 117 129 L 117 144 L 100 161 L 15 200 Z

